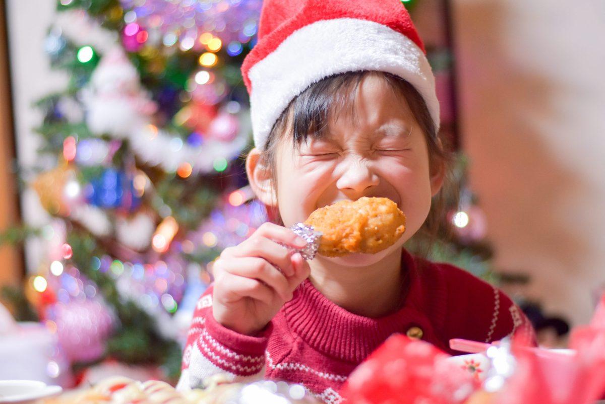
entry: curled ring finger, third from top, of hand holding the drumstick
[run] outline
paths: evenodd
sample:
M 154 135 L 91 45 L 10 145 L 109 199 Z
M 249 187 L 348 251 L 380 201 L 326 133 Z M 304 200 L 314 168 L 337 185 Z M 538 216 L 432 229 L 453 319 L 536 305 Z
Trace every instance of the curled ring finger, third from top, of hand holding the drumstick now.
M 290 290 L 290 284 L 286 276 L 263 258 L 233 258 L 229 262 L 224 262 L 221 267 L 232 275 L 244 276 L 245 278 L 257 279 L 264 282 L 264 284 L 275 290 L 278 296 L 284 299 L 284 301 L 289 301 L 292 298 L 292 291 Z

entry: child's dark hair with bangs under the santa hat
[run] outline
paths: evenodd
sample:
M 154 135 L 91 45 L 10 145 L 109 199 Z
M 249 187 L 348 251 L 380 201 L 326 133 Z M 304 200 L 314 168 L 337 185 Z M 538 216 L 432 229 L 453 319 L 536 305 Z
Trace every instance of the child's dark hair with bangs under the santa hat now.
M 261 158 L 270 170 L 274 189 L 276 189 L 275 151 L 280 139 L 291 134 L 294 145 L 298 148 L 309 136 L 320 138 L 324 135 L 329 120 L 332 120 L 332 122 L 336 120 L 347 107 L 349 109 L 345 112 L 348 112 L 355 119 L 357 90 L 362 80 L 370 74 L 382 77 L 396 95 L 403 97 L 410 106 L 416 122 L 425 135 L 431 170 L 443 165 L 446 173 L 450 172 L 449 168 L 453 162 L 453 155 L 449 148 L 444 145 L 443 140 L 439 140 L 427 104 L 416 88 L 394 74 L 380 71 L 354 71 L 335 74 L 313 83 L 290 102 L 275 122 L 264 147 L 261 149 Z M 446 175 L 446 183 L 448 182 L 449 178 Z M 447 184 L 444 184 L 444 187 L 447 187 Z M 437 239 L 440 224 L 443 222 L 443 217 L 445 217 L 445 212 L 443 212 L 445 210 L 445 197 L 443 194 L 444 192 L 441 191 L 433 197 L 428 218 L 417 233 L 418 237 L 414 235 L 414 238 L 428 239 L 428 243 L 415 243 L 426 247 L 426 250 L 414 251 L 420 255 L 428 255 L 431 244 Z M 269 210 L 269 219 L 282 224 L 276 211 Z

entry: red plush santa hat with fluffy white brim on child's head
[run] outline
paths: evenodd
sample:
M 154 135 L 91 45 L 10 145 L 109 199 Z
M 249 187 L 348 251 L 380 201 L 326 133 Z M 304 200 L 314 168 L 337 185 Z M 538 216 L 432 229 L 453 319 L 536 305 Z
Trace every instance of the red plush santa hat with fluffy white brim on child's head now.
M 384 71 L 407 80 L 439 128 L 424 45 L 400 0 L 265 0 L 258 43 L 241 71 L 261 148 L 290 101 L 325 77 Z

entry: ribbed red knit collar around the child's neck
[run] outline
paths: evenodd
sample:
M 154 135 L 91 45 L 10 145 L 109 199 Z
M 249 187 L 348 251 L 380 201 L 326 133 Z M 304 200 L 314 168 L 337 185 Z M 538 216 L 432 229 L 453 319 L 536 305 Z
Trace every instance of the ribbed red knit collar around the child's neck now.
M 422 313 L 422 287 L 413 256 L 402 250 L 402 270 L 407 289 L 402 308 L 381 318 L 368 318 L 339 307 L 306 279 L 284 305 L 290 329 L 322 353 L 359 363 L 388 336 L 405 332 L 410 325 L 428 327 Z M 402 290 L 402 292 L 404 292 Z

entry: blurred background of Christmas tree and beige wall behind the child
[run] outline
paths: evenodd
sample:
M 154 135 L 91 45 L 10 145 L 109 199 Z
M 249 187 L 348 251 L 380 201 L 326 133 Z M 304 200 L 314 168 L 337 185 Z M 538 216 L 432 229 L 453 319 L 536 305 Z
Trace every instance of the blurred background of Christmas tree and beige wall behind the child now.
M 409 0 L 456 152 L 441 241 L 565 347 L 605 288 L 605 3 Z M 0 379 L 178 378 L 246 184 L 261 0 L 0 10 Z M 601 72 L 601 73 L 599 73 Z

